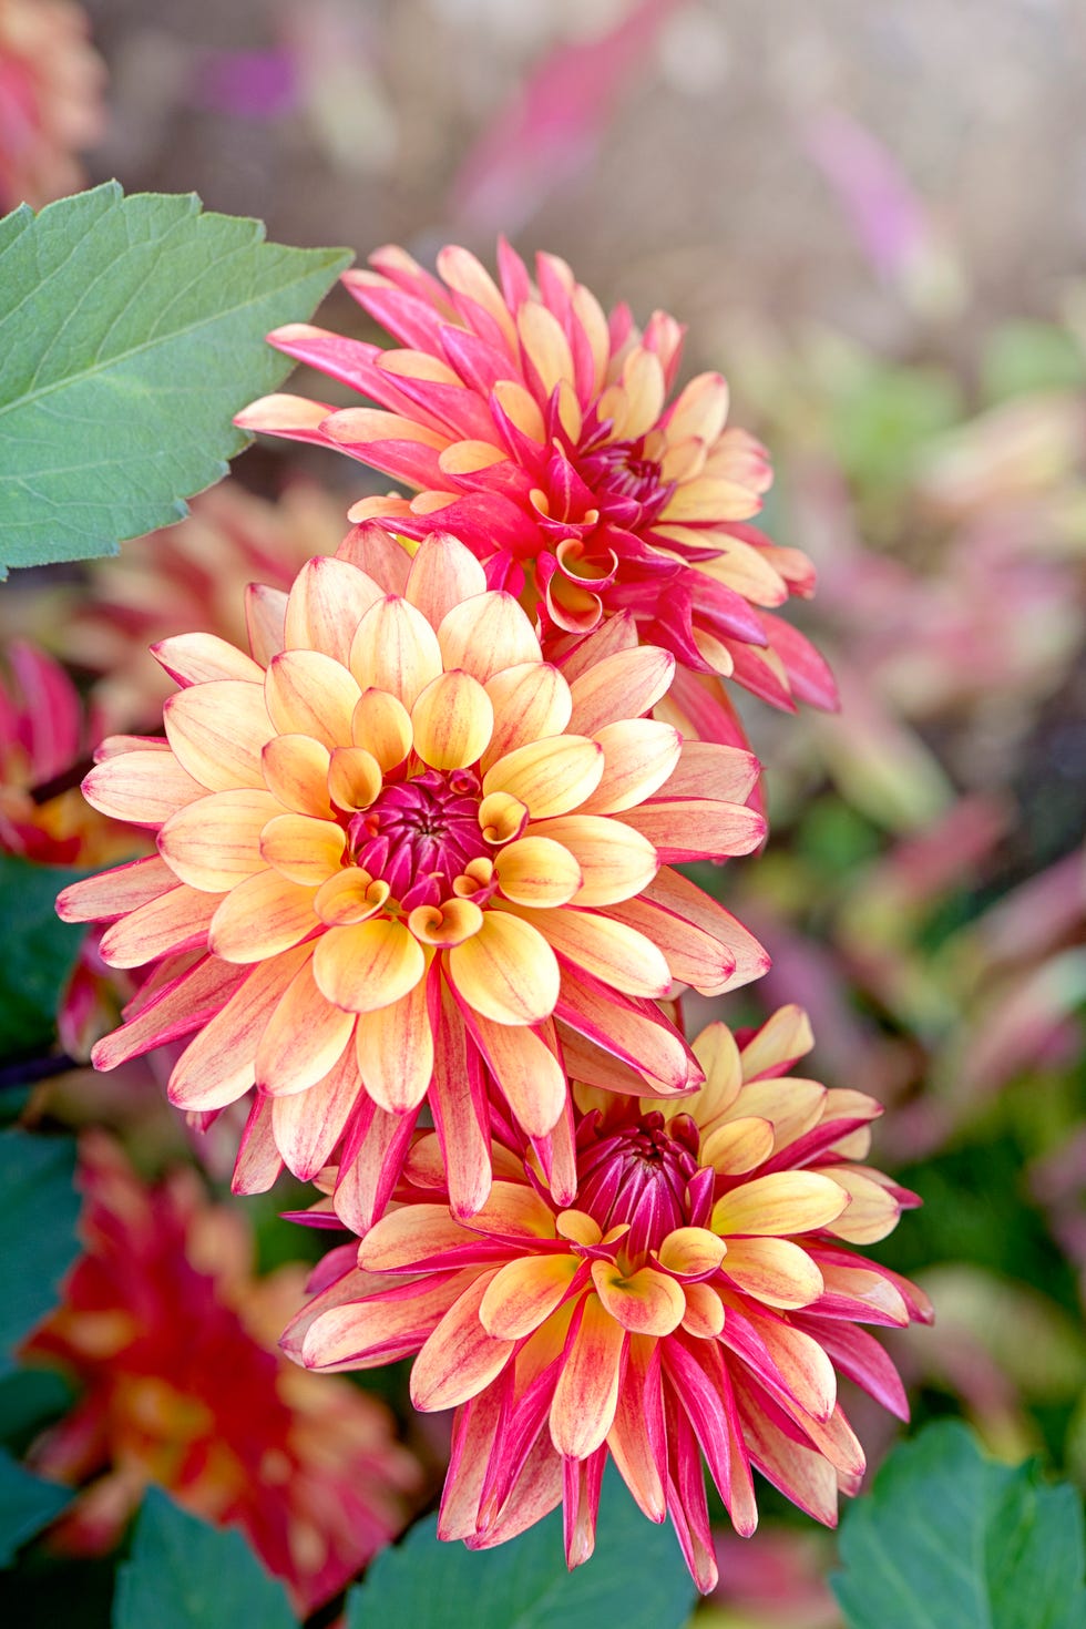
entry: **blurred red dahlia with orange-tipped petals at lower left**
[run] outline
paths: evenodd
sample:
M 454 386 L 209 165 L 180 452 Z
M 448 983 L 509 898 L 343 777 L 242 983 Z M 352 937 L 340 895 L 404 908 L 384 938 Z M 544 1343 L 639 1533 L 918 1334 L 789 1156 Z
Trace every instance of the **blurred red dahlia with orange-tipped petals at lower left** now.
M 80 1173 L 86 1249 L 23 1354 L 81 1388 L 31 1450 L 34 1469 L 80 1487 L 50 1541 L 109 1549 L 158 1482 L 239 1526 L 313 1611 L 405 1525 L 418 1464 L 376 1398 L 275 1352 L 301 1269 L 254 1279 L 239 1214 L 208 1204 L 192 1171 L 148 1189 L 90 1134 Z

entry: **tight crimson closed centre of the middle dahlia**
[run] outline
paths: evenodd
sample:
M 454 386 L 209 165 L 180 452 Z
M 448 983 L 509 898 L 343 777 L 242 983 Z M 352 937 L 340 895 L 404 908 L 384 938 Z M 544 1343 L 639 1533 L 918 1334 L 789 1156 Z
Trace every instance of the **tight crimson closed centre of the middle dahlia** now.
M 482 784 L 471 769 L 430 769 L 386 785 L 348 823 L 352 863 L 388 883 L 389 899 L 404 911 L 440 906 L 471 862 L 488 857 L 480 803 Z

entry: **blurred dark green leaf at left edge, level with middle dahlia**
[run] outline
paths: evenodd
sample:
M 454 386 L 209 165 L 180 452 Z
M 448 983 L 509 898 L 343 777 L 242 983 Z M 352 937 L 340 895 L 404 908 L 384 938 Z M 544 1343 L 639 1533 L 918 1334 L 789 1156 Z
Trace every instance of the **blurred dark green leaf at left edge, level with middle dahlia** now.
M 86 872 L 0 854 L 0 922 L 5 925 L 0 1060 L 28 1057 L 52 1043 L 60 995 L 86 932 L 80 924 L 60 920 L 57 894 L 80 876 Z

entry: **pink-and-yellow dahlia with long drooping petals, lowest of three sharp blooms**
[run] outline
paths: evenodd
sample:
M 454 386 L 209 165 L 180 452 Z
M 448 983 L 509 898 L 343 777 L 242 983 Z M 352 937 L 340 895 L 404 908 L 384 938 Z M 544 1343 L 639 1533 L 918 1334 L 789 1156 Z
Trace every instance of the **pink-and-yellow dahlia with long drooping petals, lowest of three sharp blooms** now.
M 757 1521 L 752 1469 L 835 1523 L 865 1469 L 837 1372 L 907 1417 L 856 1324 L 930 1311 L 843 1248 L 917 1201 L 860 1163 L 871 1098 L 788 1074 L 809 1044 L 785 1007 L 742 1047 L 725 1025 L 702 1031 L 707 1080 L 679 1103 L 578 1090 L 571 1207 L 510 1142 L 490 1199 L 458 1220 L 422 1137 L 358 1266 L 350 1246 L 327 1259 L 285 1346 L 321 1370 L 418 1354 L 415 1406 L 458 1411 L 443 1538 L 498 1544 L 562 1502 L 576 1565 L 607 1455 L 650 1520 L 671 1517 L 702 1590 L 716 1583 L 702 1456 L 739 1533 Z

